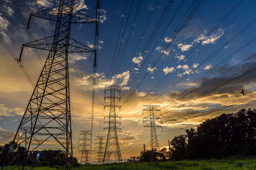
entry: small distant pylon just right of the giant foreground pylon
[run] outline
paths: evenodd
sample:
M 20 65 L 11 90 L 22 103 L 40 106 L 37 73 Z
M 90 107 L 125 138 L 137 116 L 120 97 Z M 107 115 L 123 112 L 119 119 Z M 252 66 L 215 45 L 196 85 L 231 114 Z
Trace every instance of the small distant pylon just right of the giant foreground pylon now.
M 78 136 L 78 148 L 82 148 L 80 164 L 88 164 L 90 159 L 90 136 L 91 131 L 80 131 Z

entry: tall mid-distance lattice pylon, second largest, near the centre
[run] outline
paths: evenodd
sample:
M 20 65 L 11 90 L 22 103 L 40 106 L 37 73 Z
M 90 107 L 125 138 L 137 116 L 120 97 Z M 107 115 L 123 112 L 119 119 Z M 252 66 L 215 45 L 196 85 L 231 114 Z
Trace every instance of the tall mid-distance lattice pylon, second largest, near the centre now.
M 116 107 L 121 107 L 116 105 L 116 99 L 119 99 L 120 101 L 120 97 L 116 97 L 116 92 L 120 93 L 120 88 L 116 85 L 111 85 L 109 88 L 105 89 L 105 94 L 106 92 L 109 92 L 109 96 L 105 97 L 105 101 L 108 100 L 108 104 L 105 105 L 104 108 L 109 107 L 109 116 L 104 117 L 108 118 L 108 122 L 104 122 L 104 124 L 108 124 L 108 127 L 104 128 L 108 129 L 108 138 L 106 141 L 103 163 L 110 162 L 111 156 L 118 162 L 122 162 L 122 156 L 116 132 L 116 129 L 120 129 L 116 127 L 116 124 L 120 124 L 120 122 L 116 121 L 116 118 L 120 117 L 116 116 L 115 110 Z

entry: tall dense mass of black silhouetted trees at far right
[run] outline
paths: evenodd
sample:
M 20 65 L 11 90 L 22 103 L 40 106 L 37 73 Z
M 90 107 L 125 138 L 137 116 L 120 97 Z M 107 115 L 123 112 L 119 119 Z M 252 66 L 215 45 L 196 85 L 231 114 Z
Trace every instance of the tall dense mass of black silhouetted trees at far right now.
M 186 133 L 186 158 L 189 159 L 256 155 L 256 110 L 223 113 L 205 120 L 198 125 L 197 131 L 191 128 Z

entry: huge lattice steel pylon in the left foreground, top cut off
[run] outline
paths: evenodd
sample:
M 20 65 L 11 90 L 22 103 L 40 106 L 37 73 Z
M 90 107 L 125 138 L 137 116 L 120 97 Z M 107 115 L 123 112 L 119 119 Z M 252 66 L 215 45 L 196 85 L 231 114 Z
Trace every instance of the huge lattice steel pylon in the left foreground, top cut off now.
M 48 50 L 49 55 L 29 99 L 2 169 L 8 169 L 8 162 L 19 167 L 22 166 L 22 169 L 24 166 L 33 168 L 36 166 L 35 159 L 38 158 L 36 151 L 45 150 L 52 145 L 65 154 L 66 168 L 70 169 L 73 152 L 68 53 L 95 53 L 92 48 L 70 38 L 71 25 L 96 23 L 97 21 L 76 11 L 74 0 L 60 0 L 60 4 L 55 8 L 32 13 L 28 25 L 26 25 L 28 28 L 31 17 L 54 21 L 56 27 L 53 36 L 22 45 L 22 50 L 27 46 Z M 23 146 L 24 149 L 20 150 L 19 146 Z M 20 157 L 21 155 L 22 157 Z M 44 157 L 44 155 L 40 155 L 40 157 Z M 44 159 L 47 160 L 47 157 Z M 15 169 L 17 166 L 12 168 Z

